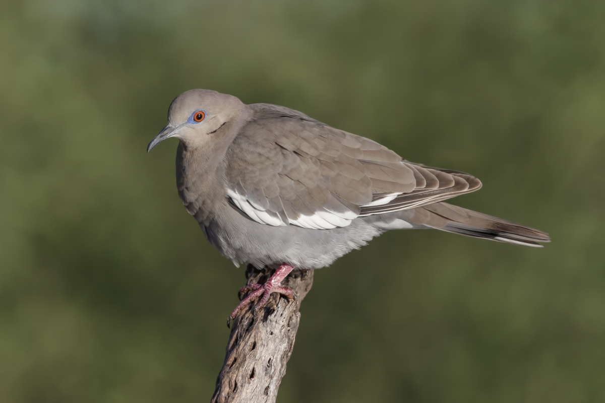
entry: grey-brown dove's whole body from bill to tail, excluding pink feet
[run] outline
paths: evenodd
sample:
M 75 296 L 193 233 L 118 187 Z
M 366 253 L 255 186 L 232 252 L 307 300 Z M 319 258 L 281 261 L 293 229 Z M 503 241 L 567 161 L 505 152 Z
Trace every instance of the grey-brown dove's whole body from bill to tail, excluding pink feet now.
M 197 121 L 201 118 L 200 121 Z M 382 232 L 436 228 L 539 247 L 548 234 L 442 202 L 479 179 L 402 160 L 301 112 L 194 89 L 169 109 L 177 187 L 209 242 L 235 263 L 315 269 Z

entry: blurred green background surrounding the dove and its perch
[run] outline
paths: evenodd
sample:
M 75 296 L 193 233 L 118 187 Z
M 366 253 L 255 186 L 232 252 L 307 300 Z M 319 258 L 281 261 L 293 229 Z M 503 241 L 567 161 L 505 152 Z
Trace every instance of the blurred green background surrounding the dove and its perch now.
M 473 173 L 542 250 L 391 231 L 315 274 L 280 402 L 605 401 L 605 3 L 0 2 L 0 401 L 209 401 L 245 282 L 172 99 L 289 106 Z

